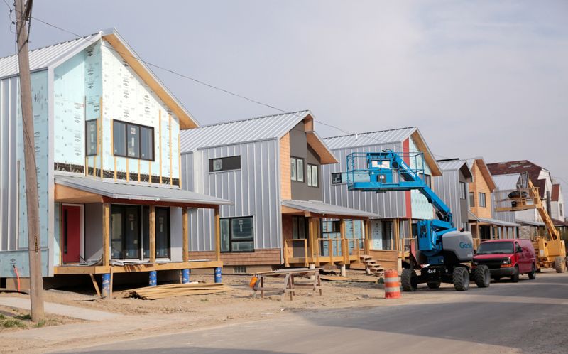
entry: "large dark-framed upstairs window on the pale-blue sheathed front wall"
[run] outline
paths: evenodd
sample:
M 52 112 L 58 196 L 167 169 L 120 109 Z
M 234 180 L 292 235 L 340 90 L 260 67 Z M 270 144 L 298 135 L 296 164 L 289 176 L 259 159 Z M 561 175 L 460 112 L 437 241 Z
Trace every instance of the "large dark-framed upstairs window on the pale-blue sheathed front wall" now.
M 112 146 L 115 156 L 154 159 L 154 129 L 138 124 L 113 121 Z

